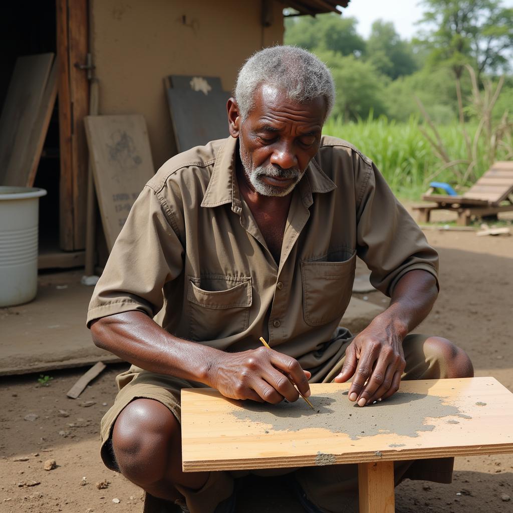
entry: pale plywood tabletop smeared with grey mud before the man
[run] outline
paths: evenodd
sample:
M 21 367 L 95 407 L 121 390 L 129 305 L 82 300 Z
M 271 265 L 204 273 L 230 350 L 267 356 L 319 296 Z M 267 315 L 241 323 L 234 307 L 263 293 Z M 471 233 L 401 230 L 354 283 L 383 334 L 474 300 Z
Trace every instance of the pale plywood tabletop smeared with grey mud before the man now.
M 302 467 L 513 452 L 513 394 L 494 378 L 404 381 L 359 406 L 350 384 L 310 385 L 279 405 L 182 390 L 185 471 Z

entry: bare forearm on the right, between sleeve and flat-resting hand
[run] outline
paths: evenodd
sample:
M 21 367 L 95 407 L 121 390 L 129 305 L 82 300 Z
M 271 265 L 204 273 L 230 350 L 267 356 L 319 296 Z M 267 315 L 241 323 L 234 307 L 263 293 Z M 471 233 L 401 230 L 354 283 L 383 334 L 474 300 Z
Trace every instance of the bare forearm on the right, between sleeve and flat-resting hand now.
M 431 273 L 420 269 L 407 272 L 394 288 L 389 307 L 373 323 L 395 330 L 403 339 L 427 317 L 437 295 Z

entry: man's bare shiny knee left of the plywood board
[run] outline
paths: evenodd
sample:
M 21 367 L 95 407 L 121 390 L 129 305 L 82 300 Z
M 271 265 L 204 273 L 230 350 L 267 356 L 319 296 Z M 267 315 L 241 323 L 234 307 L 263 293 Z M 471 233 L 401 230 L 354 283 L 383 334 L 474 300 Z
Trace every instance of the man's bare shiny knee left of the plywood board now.
M 136 399 L 117 417 L 112 447 L 121 473 L 130 481 L 149 485 L 165 479 L 172 440 L 180 425 L 169 409 L 152 399 Z

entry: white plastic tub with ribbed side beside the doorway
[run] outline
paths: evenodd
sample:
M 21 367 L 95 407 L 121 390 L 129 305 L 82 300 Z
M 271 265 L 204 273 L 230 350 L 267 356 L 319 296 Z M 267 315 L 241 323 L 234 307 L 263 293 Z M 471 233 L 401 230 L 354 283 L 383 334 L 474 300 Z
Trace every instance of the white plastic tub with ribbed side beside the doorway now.
M 35 187 L 0 187 L 0 306 L 35 298 L 39 199 L 45 194 Z

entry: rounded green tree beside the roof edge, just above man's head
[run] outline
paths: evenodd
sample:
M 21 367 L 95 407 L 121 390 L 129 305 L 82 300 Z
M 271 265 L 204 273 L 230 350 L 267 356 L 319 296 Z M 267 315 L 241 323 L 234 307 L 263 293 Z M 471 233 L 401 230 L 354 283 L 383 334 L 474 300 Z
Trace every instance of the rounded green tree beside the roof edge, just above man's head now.
M 342 18 L 330 13 L 315 18 L 301 16 L 285 20 L 285 44 L 306 50 L 330 50 L 342 55 L 360 55 L 365 41 L 356 31 L 354 18 Z

